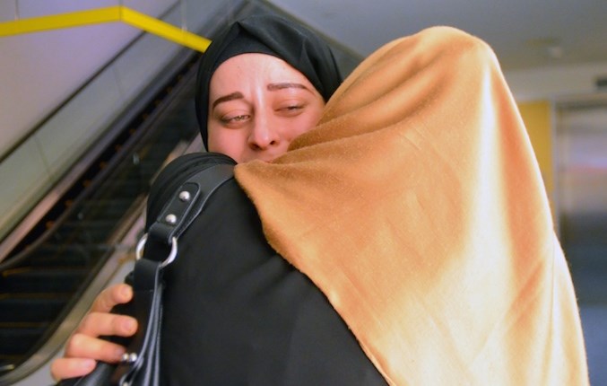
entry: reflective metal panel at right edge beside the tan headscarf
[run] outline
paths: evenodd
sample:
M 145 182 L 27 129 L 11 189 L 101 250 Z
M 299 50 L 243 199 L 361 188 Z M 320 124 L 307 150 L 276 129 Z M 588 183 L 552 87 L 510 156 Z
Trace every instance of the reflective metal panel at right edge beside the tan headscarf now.
M 593 385 L 607 384 L 607 95 L 556 110 L 560 241 L 576 287 Z

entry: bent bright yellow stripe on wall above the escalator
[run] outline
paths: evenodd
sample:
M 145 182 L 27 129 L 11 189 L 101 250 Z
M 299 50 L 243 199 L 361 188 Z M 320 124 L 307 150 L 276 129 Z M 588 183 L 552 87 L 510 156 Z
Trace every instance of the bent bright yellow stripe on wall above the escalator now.
M 144 13 L 134 11 L 124 5 L 32 17 L 12 22 L 0 22 L 0 37 L 81 27 L 105 22 L 125 22 L 135 28 L 200 52 L 204 52 L 209 47 L 209 44 L 211 44 L 211 40 L 209 39 L 204 39 L 192 32 L 182 30 L 168 22 L 162 22 Z

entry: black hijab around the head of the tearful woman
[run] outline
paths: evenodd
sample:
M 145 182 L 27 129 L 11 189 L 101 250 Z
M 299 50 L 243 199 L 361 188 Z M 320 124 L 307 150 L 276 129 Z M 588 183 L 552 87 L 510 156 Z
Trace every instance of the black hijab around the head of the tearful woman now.
M 305 75 L 325 101 L 343 80 L 331 48 L 297 22 L 269 14 L 248 16 L 234 22 L 212 40 L 198 68 L 195 109 L 205 146 L 211 76 L 230 57 L 247 53 L 280 57 Z

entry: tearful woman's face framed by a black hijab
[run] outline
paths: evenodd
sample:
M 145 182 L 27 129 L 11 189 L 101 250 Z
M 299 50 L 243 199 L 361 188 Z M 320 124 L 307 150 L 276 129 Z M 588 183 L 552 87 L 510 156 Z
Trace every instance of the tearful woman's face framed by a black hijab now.
M 323 97 L 278 57 L 242 54 L 217 68 L 209 89 L 209 151 L 236 162 L 272 161 L 315 127 Z

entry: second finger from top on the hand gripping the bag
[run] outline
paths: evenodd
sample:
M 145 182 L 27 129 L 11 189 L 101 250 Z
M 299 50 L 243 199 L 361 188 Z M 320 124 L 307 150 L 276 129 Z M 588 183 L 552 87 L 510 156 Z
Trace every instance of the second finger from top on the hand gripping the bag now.
M 91 338 L 130 337 L 136 330 L 137 320 L 131 316 L 108 312 L 89 312 L 84 316 L 75 332 Z

